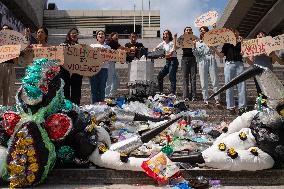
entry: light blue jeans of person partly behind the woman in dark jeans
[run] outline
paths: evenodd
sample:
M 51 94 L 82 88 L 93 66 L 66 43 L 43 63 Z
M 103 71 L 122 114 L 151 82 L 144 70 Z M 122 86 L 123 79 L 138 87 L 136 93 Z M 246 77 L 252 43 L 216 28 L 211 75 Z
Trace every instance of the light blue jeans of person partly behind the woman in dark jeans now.
M 106 97 L 113 97 L 119 87 L 119 78 L 115 69 L 115 62 L 109 62 L 108 78 L 105 89 Z

